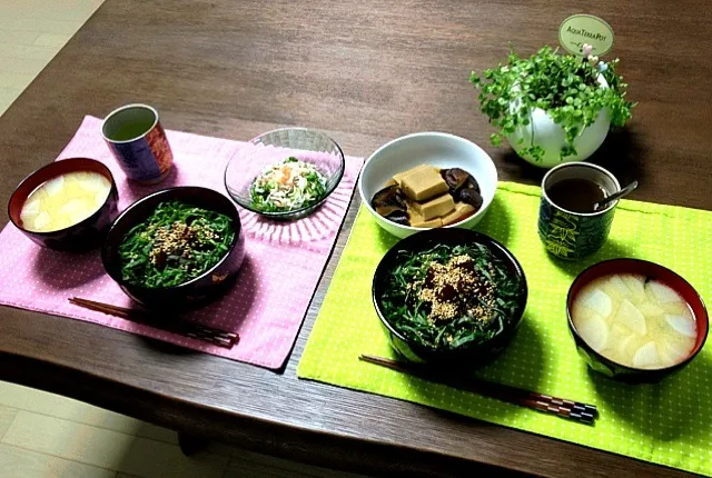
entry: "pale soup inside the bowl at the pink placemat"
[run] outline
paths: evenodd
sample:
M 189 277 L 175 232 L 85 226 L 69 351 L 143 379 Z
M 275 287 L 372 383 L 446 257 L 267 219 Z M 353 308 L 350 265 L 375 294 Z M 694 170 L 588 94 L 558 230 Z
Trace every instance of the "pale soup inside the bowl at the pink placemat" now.
M 109 196 L 111 182 L 93 171 L 75 171 L 52 178 L 24 201 L 20 219 L 32 232 L 58 231 L 93 215 Z

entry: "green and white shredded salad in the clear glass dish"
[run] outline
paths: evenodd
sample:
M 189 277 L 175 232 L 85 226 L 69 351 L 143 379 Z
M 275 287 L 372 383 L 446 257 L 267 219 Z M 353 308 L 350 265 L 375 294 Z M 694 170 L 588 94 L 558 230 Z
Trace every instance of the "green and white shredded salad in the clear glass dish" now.
M 250 189 L 253 206 L 265 212 L 307 208 L 324 198 L 326 181 L 314 165 L 289 157 L 255 179 Z

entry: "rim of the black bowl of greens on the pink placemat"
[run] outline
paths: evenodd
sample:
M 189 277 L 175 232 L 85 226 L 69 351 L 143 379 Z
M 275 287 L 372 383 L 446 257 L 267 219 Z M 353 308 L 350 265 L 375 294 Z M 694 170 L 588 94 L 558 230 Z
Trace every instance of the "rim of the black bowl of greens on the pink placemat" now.
M 181 282 L 181 283 L 179 283 L 177 286 L 170 286 L 170 287 L 142 287 L 142 286 L 137 286 L 135 283 L 127 282 L 126 280 L 123 280 L 122 277 L 116 277 L 115 275 L 112 275 L 111 271 L 110 271 L 111 268 L 107 267 L 107 263 L 109 262 L 109 259 L 107 257 L 108 256 L 108 249 L 109 249 L 108 238 L 111 235 L 111 232 L 113 231 L 113 229 L 118 227 L 118 223 L 121 221 L 121 219 L 123 219 L 123 217 L 131 209 L 139 207 L 141 202 L 147 201 L 148 199 L 155 198 L 156 196 L 169 196 L 172 192 L 176 192 L 178 190 L 186 190 L 186 189 L 201 190 L 205 193 L 217 195 L 220 198 L 225 199 L 226 203 L 230 205 L 230 207 L 235 211 L 235 217 L 233 218 L 235 220 L 235 225 L 236 225 L 235 237 L 233 238 L 233 242 L 230 243 L 230 247 L 228 248 L 228 250 L 225 252 L 225 255 L 222 255 L 222 258 L 220 258 L 219 261 L 217 261 L 210 269 L 206 270 L 200 276 L 194 277 L 192 279 L 190 279 L 190 280 L 188 280 L 186 282 Z M 109 231 L 107 232 L 107 238 L 105 239 L 103 245 L 101 246 L 101 263 L 102 263 L 103 270 L 107 272 L 107 275 L 111 279 L 113 279 L 121 287 L 126 287 L 126 288 L 129 288 L 131 290 L 140 290 L 140 291 L 157 291 L 157 290 L 161 291 L 161 292 L 162 291 L 169 291 L 169 292 L 170 291 L 177 291 L 177 290 L 181 290 L 184 288 L 187 288 L 187 287 L 191 286 L 195 282 L 198 282 L 199 280 L 201 280 L 205 277 L 207 277 L 210 273 L 212 273 L 218 267 L 220 267 L 220 265 L 222 265 L 222 262 L 225 262 L 227 260 L 227 258 L 233 253 L 233 250 L 235 249 L 235 247 L 239 242 L 240 236 L 244 232 L 243 232 L 243 223 L 240 222 L 240 215 L 237 211 L 237 208 L 235 207 L 233 201 L 230 201 L 228 198 L 226 198 L 225 195 L 219 193 L 215 189 L 204 188 L 204 187 L 200 187 L 200 186 L 176 186 L 176 187 L 172 187 L 172 188 L 161 189 L 159 191 L 151 192 L 150 195 L 145 196 L 141 199 L 136 200 L 128 208 L 126 208 L 123 211 L 121 211 L 119 217 L 116 218 L 116 220 L 111 225 L 111 228 L 109 228 Z

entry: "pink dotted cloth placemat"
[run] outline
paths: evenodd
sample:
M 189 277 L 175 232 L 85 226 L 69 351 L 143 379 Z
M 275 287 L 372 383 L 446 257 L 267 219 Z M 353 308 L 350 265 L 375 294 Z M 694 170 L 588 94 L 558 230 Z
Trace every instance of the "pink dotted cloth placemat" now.
M 101 138 L 101 120 L 86 117 L 59 156 L 97 159 L 111 169 L 119 209 L 170 186 L 202 186 L 226 193 L 227 162 L 245 143 L 167 131 L 175 169 L 160 185 L 129 183 Z M 296 339 L 354 191 L 362 158 L 346 158 L 340 185 L 319 210 L 293 222 L 275 222 L 240 209 L 247 256 L 237 283 L 221 299 L 187 316 L 236 331 L 233 349 L 136 325 L 67 301 L 71 296 L 130 307 L 131 301 L 103 272 L 99 251 L 83 255 L 42 249 L 11 223 L 0 232 L 0 303 L 70 317 L 270 369 L 280 368 Z M 28 171 L 30 172 L 30 171 Z M 238 208 L 239 209 L 239 208 Z M 58 320 L 61 320 L 58 318 Z

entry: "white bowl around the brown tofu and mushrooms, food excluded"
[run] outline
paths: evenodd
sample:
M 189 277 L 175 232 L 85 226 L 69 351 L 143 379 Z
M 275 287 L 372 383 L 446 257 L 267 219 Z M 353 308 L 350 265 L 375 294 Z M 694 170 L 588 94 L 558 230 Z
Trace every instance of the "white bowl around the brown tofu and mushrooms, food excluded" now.
M 378 226 L 399 238 L 426 230 L 392 222 L 370 206 L 374 195 L 382 190 L 394 175 L 419 165 L 461 168 L 469 172 L 479 185 L 482 207 L 473 216 L 446 227 L 472 229 L 479 222 L 497 189 L 497 169 L 492 158 L 477 145 L 464 138 L 444 132 L 416 132 L 394 139 L 378 148 L 366 160 L 358 178 L 360 200 Z

